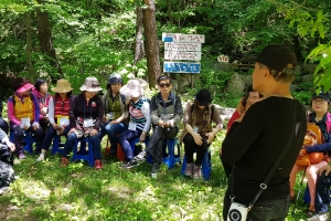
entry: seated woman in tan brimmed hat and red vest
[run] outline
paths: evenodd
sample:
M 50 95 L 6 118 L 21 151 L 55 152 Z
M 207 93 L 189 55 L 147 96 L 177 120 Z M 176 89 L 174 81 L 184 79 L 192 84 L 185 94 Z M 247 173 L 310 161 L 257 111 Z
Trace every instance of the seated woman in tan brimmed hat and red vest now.
M 58 80 L 56 87 L 53 87 L 52 91 L 56 94 L 54 97 L 51 97 L 49 102 L 50 126 L 36 161 L 43 161 L 45 159 L 45 152 L 50 149 L 50 145 L 56 134 L 67 136 L 71 129 L 68 126 L 68 113 L 73 87 L 68 81 Z

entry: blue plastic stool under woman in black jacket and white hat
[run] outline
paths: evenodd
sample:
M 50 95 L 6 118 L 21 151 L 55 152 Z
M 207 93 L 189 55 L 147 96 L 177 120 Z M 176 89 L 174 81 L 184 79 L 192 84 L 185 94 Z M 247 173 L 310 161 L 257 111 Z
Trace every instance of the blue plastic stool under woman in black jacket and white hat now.
M 78 143 L 81 141 L 81 149 L 77 151 Z M 86 144 L 88 144 L 88 151 L 85 151 Z M 93 156 L 93 148 L 92 143 L 89 141 L 88 137 L 81 137 L 77 139 L 75 147 L 74 147 L 74 155 L 72 158 L 72 161 L 75 160 L 86 160 L 89 165 L 89 167 L 94 167 L 94 156 Z

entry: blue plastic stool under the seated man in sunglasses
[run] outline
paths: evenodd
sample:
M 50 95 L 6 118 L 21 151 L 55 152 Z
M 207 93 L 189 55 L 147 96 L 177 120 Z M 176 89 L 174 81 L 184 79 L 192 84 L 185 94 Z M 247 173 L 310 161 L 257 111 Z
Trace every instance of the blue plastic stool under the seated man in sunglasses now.
M 168 165 L 168 169 L 172 169 L 175 164 L 181 164 L 181 150 L 179 146 L 179 140 L 178 138 L 175 139 L 167 139 L 164 143 L 167 146 L 164 147 L 164 151 L 168 147 L 168 152 L 164 152 L 163 155 L 163 164 Z M 178 148 L 178 154 L 174 154 L 174 147 L 177 146 Z

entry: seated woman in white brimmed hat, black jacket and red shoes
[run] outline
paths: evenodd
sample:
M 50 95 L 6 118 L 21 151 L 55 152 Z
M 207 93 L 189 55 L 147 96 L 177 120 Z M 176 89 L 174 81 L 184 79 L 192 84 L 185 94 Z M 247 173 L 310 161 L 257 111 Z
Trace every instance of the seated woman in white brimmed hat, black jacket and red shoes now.
M 82 136 L 88 136 L 92 143 L 94 164 L 96 169 L 102 169 L 102 149 L 99 129 L 104 116 L 103 101 L 97 93 L 102 91 L 96 77 L 86 77 L 85 84 L 79 88 L 82 94 L 75 95 L 71 101 L 70 131 L 64 145 L 62 166 L 68 165 L 68 154 Z

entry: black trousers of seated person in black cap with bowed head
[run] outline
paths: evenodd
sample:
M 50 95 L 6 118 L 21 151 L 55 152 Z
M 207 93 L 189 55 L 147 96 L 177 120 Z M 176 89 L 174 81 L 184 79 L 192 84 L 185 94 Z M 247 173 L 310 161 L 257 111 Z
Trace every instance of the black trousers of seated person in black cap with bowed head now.
M 186 162 L 193 162 L 193 154 L 196 151 L 195 165 L 201 166 L 204 154 L 210 145 L 207 145 L 207 136 L 200 135 L 202 137 L 202 145 L 196 145 L 193 136 L 191 134 L 186 134 L 183 138 L 184 149 L 186 155 Z

